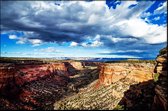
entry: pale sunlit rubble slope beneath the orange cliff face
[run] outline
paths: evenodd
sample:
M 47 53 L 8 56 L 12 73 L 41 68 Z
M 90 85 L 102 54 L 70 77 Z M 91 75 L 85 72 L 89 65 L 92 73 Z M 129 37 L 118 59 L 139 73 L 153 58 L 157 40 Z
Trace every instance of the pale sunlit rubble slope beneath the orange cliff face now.
M 124 91 L 129 89 L 131 84 L 137 82 L 128 79 L 121 79 L 108 86 L 94 88 L 95 81 L 85 91 L 77 95 L 62 99 L 54 104 L 55 110 L 112 110 L 120 102 Z

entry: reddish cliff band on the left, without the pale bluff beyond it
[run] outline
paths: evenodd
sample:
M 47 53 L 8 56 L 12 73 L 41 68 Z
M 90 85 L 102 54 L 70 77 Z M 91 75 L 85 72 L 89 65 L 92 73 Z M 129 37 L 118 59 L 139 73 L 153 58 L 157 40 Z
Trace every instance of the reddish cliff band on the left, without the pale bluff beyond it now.
M 50 63 L 50 64 L 0 64 L 0 90 L 6 84 L 23 85 L 27 82 L 35 81 L 47 75 L 56 74 L 68 77 L 67 67 L 64 63 Z

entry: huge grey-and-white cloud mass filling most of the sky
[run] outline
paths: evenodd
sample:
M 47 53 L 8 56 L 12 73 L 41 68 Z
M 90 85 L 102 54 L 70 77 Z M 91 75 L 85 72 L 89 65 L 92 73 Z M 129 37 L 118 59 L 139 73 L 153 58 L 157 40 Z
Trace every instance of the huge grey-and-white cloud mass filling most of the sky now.
M 155 1 L 121 1 L 115 8 L 109 8 L 105 1 L 1 3 L 2 31 L 23 32 L 22 38 L 17 39 L 17 43 L 21 44 L 31 43 L 36 46 L 43 42 L 68 42 L 70 46 L 138 50 L 151 48 L 151 44 L 163 46 L 167 41 L 166 25 L 146 22 L 152 14 L 146 10 Z M 165 12 L 166 3 L 154 13 Z M 152 50 L 155 52 L 154 48 Z

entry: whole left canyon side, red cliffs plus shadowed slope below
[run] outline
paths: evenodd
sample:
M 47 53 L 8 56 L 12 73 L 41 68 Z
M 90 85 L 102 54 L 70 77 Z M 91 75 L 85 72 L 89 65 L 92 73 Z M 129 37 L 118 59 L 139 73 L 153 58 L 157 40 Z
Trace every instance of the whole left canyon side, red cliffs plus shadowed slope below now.
M 55 101 L 98 78 L 97 69 L 83 69 L 78 62 L 21 60 L 0 66 L 0 110 L 53 109 Z

